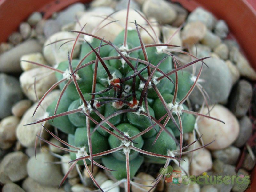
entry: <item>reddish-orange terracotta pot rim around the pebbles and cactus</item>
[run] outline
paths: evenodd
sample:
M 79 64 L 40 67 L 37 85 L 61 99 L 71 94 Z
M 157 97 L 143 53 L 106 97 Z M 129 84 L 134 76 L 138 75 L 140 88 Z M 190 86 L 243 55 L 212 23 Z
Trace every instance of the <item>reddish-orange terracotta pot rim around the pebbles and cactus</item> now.
M 245 55 L 256 69 L 256 1 L 255 0 L 171 0 L 179 2 L 192 11 L 198 6 L 212 12 L 219 19 L 228 23 L 232 35 L 241 45 Z M 75 2 L 90 0 L 0 0 L 0 42 L 18 29 L 19 24 L 34 11 L 39 11 L 48 18 L 53 12 L 59 11 Z M 256 188 L 256 170 L 252 172 L 251 188 Z

